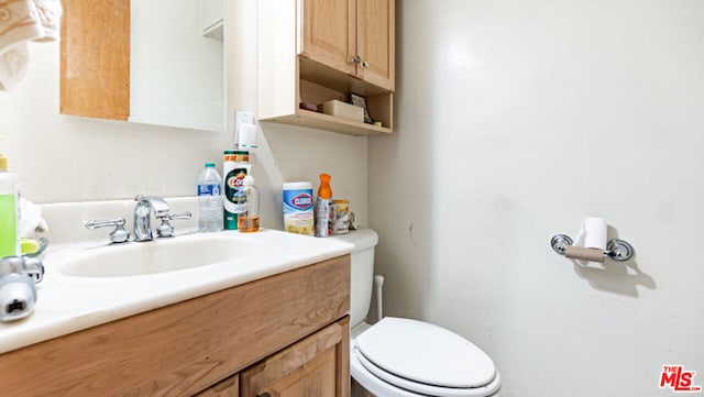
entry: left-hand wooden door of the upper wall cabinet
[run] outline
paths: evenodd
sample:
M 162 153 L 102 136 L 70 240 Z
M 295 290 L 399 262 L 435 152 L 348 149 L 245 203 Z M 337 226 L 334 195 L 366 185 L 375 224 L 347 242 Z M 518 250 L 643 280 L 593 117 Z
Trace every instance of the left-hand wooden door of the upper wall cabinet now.
M 356 0 L 299 0 L 299 4 L 300 55 L 354 75 Z

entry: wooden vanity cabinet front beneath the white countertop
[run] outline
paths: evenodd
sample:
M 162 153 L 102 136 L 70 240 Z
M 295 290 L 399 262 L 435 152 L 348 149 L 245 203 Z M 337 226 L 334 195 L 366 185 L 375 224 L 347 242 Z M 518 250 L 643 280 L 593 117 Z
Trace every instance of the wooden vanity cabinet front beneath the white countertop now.
M 0 394 L 349 397 L 349 310 L 344 255 L 0 354 Z

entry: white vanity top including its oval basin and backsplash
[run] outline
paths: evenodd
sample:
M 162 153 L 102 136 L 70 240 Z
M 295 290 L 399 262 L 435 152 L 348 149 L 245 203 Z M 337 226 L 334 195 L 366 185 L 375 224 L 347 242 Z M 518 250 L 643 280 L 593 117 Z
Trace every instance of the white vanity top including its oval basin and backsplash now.
M 197 198 L 170 198 L 173 212 L 197 210 Z M 82 219 L 130 213 L 133 200 L 42 206 L 46 273 L 34 313 L 0 322 L 0 354 L 102 323 L 251 283 L 349 254 L 352 245 L 262 228 L 256 233 L 191 233 L 178 223 L 173 239 L 107 245 L 108 232 Z M 97 233 L 97 234 L 96 234 Z M 2 393 L 0 393 L 1 395 Z

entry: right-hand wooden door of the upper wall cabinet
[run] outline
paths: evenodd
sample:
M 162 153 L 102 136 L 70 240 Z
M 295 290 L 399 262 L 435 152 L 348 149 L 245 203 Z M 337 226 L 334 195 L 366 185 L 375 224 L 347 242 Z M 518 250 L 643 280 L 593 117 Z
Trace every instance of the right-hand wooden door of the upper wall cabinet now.
M 394 91 L 394 0 L 358 0 L 356 52 L 362 63 L 358 77 Z

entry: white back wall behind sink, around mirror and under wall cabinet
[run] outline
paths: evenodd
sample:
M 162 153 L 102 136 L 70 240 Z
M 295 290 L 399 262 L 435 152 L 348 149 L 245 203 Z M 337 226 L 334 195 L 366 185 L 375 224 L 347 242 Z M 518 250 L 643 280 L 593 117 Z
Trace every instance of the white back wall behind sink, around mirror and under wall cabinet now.
M 256 3 L 229 2 L 229 123 L 234 109 L 256 112 Z M 0 152 L 34 202 L 131 199 L 138 194 L 195 195 L 205 162 L 222 172 L 228 132 L 146 125 L 58 114 L 58 43 L 32 43 L 28 76 L 0 91 Z M 366 222 L 366 139 L 265 123 L 252 174 L 262 190 L 262 223 L 283 228 L 282 183 L 332 175 L 333 194 Z M 117 214 L 116 214 L 117 216 Z M 125 214 L 127 216 L 127 214 Z M 81 222 L 84 220 L 76 220 Z M 51 228 L 51 224 L 50 224 Z

